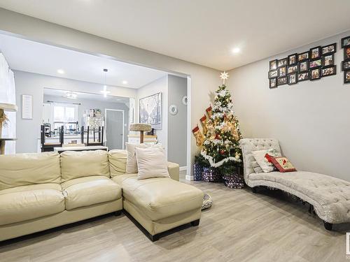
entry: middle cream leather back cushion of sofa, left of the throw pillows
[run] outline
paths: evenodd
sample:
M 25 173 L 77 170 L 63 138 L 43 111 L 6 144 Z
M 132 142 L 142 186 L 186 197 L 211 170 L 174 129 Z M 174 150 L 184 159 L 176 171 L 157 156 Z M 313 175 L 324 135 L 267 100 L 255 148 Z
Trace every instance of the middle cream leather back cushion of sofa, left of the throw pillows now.
M 62 182 L 90 175 L 109 177 L 108 153 L 104 150 L 61 153 Z

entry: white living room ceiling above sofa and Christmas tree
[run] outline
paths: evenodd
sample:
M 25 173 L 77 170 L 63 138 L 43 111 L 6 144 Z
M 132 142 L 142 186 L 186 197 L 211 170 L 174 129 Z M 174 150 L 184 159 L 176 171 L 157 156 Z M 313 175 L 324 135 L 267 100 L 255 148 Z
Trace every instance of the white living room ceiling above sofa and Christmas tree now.
M 0 6 L 220 70 L 350 29 L 345 0 L 0 0 Z

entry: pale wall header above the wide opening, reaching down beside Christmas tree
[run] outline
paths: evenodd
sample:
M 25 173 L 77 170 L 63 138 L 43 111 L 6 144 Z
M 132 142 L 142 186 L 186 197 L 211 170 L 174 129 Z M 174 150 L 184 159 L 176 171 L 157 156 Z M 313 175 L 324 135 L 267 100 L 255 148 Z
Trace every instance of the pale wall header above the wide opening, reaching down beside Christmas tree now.
M 220 78 L 218 78 L 219 72 L 212 68 L 110 41 L 106 38 L 86 34 L 3 8 L 0 8 L 0 30 L 43 43 L 51 43 L 73 50 L 83 50 L 92 54 L 104 54 L 120 61 L 190 75 L 192 85 L 190 94 L 192 96 L 192 99 L 190 99 L 192 103 L 190 105 L 192 123 L 188 127 L 188 132 L 199 122 L 205 108 L 209 105 L 212 92 L 221 83 Z M 195 145 L 194 136 L 191 136 L 191 138 L 193 160 L 198 148 Z

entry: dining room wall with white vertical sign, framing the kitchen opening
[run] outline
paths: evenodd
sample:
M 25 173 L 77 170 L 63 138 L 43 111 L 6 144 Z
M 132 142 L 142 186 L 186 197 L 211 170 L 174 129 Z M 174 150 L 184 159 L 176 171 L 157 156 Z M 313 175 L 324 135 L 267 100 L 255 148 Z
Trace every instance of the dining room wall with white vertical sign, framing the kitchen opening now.
M 77 92 L 90 92 L 98 94 L 101 85 L 56 78 L 48 75 L 14 71 L 16 85 L 17 138 L 16 152 L 27 153 L 37 151 L 37 138 L 40 138 L 40 125 L 43 119 L 43 89 L 44 87 L 71 90 Z M 123 87 L 110 87 L 112 95 L 136 97 L 136 89 Z M 33 96 L 33 119 L 22 119 L 22 94 Z

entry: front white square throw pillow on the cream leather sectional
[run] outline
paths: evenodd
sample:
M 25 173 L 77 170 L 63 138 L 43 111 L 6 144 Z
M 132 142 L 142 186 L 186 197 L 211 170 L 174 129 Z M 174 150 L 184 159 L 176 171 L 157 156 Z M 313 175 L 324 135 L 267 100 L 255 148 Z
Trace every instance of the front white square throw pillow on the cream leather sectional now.
M 136 147 L 138 180 L 151 177 L 170 177 L 165 150 L 162 147 Z

